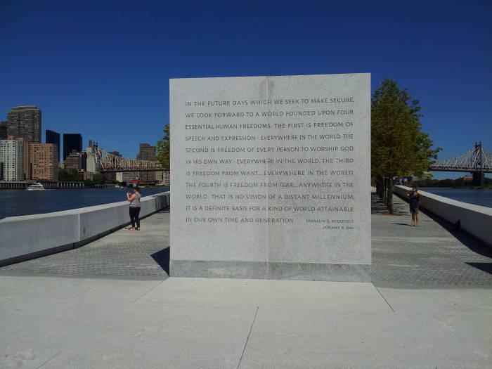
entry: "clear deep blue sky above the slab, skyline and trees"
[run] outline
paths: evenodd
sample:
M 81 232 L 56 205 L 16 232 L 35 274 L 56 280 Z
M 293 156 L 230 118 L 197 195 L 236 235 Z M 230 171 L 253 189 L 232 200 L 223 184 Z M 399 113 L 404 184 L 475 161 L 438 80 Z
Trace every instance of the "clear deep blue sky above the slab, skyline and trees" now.
M 2 0 L 0 117 L 38 105 L 43 131 L 135 157 L 169 122 L 169 78 L 370 72 L 420 100 L 440 158 L 492 151 L 490 0 L 340 4 Z

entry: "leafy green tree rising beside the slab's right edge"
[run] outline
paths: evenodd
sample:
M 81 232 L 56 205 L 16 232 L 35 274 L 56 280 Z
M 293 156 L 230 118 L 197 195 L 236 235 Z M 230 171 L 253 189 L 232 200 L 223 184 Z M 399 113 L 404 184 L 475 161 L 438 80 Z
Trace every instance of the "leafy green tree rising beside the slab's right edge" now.
M 439 148 L 421 131 L 419 101 L 385 78 L 371 101 L 371 168 L 377 193 L 391 212 L 394 178 L 422 175 Z

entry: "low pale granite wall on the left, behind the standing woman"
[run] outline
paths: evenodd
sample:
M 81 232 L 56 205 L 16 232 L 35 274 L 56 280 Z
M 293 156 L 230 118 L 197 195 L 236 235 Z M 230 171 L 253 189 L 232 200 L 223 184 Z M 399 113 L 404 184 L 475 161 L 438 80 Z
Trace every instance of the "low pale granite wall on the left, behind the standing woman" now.
M 140 217 L 169 207 L 170 193 L 141 198 Z M 0 266 L 69 250 L 127 226 L 129 202 L 0 220 Z

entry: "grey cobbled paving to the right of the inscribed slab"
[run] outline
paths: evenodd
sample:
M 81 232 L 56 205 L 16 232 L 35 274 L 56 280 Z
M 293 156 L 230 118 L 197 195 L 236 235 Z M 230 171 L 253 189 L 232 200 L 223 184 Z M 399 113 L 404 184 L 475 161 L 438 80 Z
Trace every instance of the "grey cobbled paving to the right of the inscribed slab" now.
M 393 196 L 394 215 L 372 198 L 373 283 L 378 286 L 492 286 L 492 249 L 451 224 L 420 212 L 410 226 L 408 204 Z

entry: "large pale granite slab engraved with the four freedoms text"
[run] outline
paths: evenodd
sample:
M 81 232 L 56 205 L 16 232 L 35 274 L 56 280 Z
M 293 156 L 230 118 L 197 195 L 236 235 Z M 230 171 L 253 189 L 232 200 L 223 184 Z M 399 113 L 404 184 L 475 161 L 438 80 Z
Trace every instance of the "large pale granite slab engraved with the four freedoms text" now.
M 370 280 L 370 75 L 171 79 L 171 276 Z

